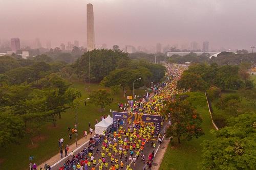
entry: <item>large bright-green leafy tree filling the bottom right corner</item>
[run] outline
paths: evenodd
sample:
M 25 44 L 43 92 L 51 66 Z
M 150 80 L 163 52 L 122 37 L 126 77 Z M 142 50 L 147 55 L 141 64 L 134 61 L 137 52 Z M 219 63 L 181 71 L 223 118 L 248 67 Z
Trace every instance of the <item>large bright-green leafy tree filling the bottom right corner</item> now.
M 202 169 L 256 169 L 256 114 L 229 119 L 228 126 L 211 131 L 215 138 L 202 143 Z

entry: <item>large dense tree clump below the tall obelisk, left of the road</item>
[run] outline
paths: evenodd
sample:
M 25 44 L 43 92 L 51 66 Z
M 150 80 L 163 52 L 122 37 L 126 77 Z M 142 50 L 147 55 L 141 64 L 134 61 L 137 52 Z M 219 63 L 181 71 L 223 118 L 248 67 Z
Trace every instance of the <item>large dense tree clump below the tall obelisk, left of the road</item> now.
M 135 88 L 150 82 L 158 82 L 165 75 L 165 67 L 153 64 L 146 60 L 132 60 L 127 53 L 120 50 L 93 50 L 84 53 L 81 58 L 71 66 L 78 79 L 89 81 L 89 60 L 91 82 L 101 82 L 106 87 L 120 85 L 123 89 L 132 89 L 133 81 L 142 78 L 135 83 Z M 68 71 L 68 70 L 67 70 Z M 70 71 L 68 71 L 70 72 Z

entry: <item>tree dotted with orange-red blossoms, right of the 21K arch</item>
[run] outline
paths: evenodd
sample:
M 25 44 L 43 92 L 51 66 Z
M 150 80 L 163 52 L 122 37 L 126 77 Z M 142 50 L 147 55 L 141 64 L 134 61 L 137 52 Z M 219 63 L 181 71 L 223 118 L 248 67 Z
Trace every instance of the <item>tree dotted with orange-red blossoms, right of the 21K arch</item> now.
M 168 137 L 176 137 L 178 143 L 180 143 L 181 137 L 190 140 L 193 137 L 198 138 L 204 134 L 200 127 L 202 123 L 201 117 L 186 100 L 167 103 L 163 113 L 165 115 L 170 113 L 170 119 L 172 120 L 172 125 L 168 127 L 166 134 Z

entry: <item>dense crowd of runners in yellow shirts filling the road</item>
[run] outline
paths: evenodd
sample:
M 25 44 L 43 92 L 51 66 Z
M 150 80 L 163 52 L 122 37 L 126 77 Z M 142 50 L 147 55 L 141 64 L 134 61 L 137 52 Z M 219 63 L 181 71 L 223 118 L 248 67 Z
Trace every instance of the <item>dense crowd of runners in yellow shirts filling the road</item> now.
M 150 100 L 148 94 L 137 95 L 137 100 L 134 103 L 129 101 L 127 104 L 118 104 L 119 109 L 128 111 L 130 108 L 135 113 L 160 115 L 161 109 L 164 107 L 163 101 L 173 100 L 173 95 L 179 93 L 176 90 L 176 83 L 183 72 L 182 68 L 166 67 L 166 76 L 169 76 L 170 81 L 161 82 L 159 86 L 154 87 L 155 95 Z M 163 122 L 167 118 L 164 117 Z M 143 162 L 143 169 L 151 169 L 155 156 L 154 148 L 157 142 L 161 144 L 162 141 L 161 133 L 155 136 L 153 123 L 121 120 L 118 131 L 110 130 L 103 133 L 102 136 L 94 135 L 90 139 L 88 147 L 76 155 L 71 154 L 71 160 L 67 159 L 59 169 L 67 169 L 70 167 L 69 165 L 72 165 L 73 170 L 95 170 L 96 168 L 99 170 L 132 170 L 138 161 Z M 152 152 L 146 154 L 145 149 Z

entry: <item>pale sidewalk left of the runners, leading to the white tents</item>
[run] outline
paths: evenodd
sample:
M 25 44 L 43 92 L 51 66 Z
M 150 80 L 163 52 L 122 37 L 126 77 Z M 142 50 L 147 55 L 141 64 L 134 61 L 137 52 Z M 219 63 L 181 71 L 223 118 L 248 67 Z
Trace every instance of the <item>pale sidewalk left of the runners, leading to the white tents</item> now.
M 93 134 L 94 134 L 94 131 L 93 131 Z M 87 141 L 90 140 L 90 137 L 93 137 L 93 135 L 91 135 L 91 133 L 89 133 L 87 135 L 87 138 L 86 137 L 82 137 L 81 139 L 77 140 L 77 147 L 76 147 L 76 143 L 73 143 L 71 145 L 69 145 L 69 153 L 68 155 L 71 153 L 71 151 L 74 151 L 75 149 L 79 148 L 82 144 L 86 143 Z M 48 164 L 52 167 L 53 164 L 55 164 L 56 162 L 60 161 L 60 160 L 64 160 L 66 159 L 67 157 L 65 157 L 65 151 L 64 151 L 64 148 L 65 146 L 63 146 L 63 158 L 60 159 L 60 153 L 56 154 L 55 156 L 51 157 L 50 159 L 48 159 L 47 161 L 41 163 L 40 165 L 38 165 L 38 169 L 40 167 L 44 168 L 45 164 Z M 75 155 L 76 152 L 74 152 L 74 155 Z M 56 166 L 61 166 L 61 165 L 56 165 Z M 58 168 L 59 168 L 58 167 Z M 55 168 L 54 168 L 55 169 Z

